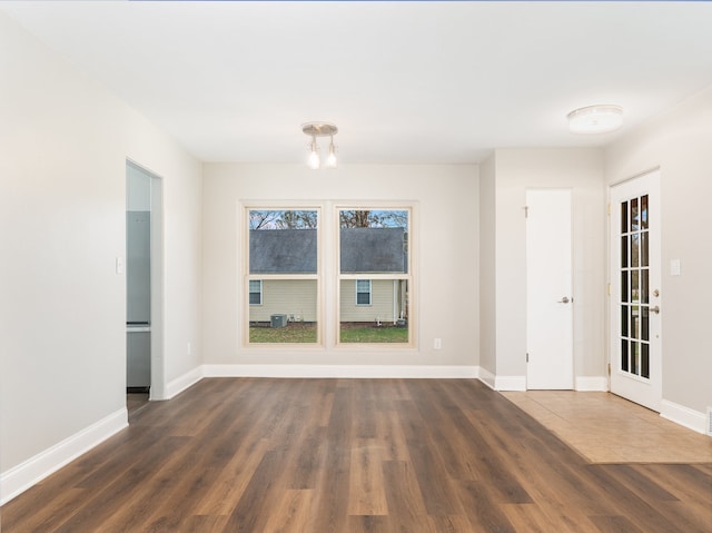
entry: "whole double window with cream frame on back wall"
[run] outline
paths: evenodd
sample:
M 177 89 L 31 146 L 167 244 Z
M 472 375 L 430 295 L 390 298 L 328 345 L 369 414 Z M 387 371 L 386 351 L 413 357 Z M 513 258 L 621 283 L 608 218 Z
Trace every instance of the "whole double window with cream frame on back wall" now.
M 326 207 L 333 226 L 323 236 Z M 241 218 L 247 346 L 319 345 L 324 332 L 336 345 L 413 345 L 409 206 L 250 203 Z

